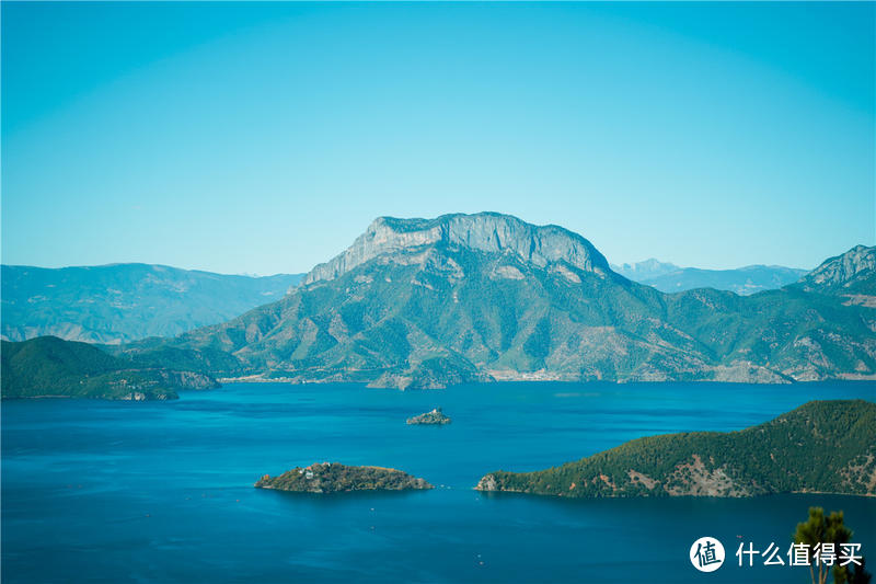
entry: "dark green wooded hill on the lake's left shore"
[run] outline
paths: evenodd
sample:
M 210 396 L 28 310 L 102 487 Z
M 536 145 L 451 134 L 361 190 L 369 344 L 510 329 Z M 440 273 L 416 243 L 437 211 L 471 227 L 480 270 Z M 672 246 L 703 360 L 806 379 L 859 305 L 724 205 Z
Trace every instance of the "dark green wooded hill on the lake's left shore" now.
M 180 389 L 210 389 L 215 379 L 192 371 L 142 367 L 87 343 L 39 336 L 2 342 L 2 398 L 166 400 Z

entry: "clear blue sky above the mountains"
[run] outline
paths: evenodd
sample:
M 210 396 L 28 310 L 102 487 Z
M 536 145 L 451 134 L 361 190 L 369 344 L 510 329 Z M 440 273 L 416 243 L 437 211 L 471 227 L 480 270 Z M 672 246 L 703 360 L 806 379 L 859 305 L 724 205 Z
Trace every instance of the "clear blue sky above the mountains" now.
M 2 261 L 303 272 L 496 210 L 612 262 L 874 244 L 876 4 L 2 2 Z

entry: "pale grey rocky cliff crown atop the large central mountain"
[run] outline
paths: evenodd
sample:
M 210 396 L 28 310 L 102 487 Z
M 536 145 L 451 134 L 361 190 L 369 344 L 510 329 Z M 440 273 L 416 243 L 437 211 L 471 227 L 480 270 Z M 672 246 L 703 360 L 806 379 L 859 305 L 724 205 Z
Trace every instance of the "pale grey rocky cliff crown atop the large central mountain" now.
M 565 262 L 586 272 L 610 272 L 606 257 L 577 233 L 554 225 L 534 226 L 510 215 L 479 213 L 435 219 L 379 217 L 347 250 L 315 266 L 303 284 L 334 279 L 379 255 L 438 244 L 514 253 L 539 267 Z

